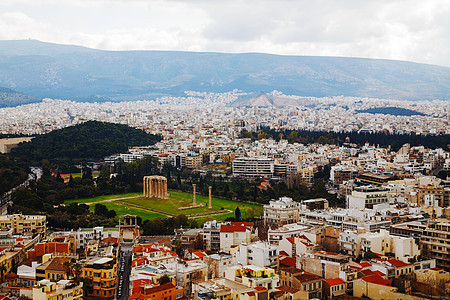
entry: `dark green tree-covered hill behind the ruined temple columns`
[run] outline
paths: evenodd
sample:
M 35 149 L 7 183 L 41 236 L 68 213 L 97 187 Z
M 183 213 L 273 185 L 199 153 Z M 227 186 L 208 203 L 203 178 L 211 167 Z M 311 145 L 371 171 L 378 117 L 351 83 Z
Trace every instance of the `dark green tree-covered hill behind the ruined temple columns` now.
M 48 159 L 54 163 L 85 162 L 124 153 L 128 147 L 153 145 L 161 139 L 122 124 L 89 121 L 36 136 L 11 151 L 34 163 Z

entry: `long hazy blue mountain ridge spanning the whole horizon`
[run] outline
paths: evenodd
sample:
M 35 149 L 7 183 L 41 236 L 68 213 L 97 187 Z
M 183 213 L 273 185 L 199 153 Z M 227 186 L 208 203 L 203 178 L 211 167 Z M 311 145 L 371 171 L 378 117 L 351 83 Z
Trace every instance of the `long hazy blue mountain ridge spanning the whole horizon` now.
M 0 86 L 35 97 L 145 100 L 186 90 L 448 100 L 450 68 L 406 61 L 180 51 L 101 51 L 0 41 Z

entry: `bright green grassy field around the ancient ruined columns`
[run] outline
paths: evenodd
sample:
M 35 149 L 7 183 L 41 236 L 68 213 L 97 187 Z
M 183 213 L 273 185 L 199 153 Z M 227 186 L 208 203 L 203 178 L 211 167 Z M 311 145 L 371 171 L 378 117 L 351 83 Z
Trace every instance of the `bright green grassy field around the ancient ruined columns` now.
M 168 218 L 180 214 L 196 219 L 199 223 L 207 219 L 223 221 L 234 216 L 234 210 L 239 207 L 241 217 L 259 217 L 263 207 L 259 204 L 244 203 L 222 198 L 212 197 L 212 208 L 208 208 L 208 197 L 196 195 L 197 205 L 203 207 L 193 207 L 180 210 L 192 205 L 192 194 L 168 191 L 169 199 L 144 198 L 141 193 L 127 193 L 119 195 L 105 195 L 93 198 L 67 200 L 64 203 L 73 202 L 89 205 L 89 209 L 94 211 L 95 204 L 101 203 L 109 210 L 116 211 L 117 215 L 137 215 L 142 220 L 152 220 L 154 218 Z

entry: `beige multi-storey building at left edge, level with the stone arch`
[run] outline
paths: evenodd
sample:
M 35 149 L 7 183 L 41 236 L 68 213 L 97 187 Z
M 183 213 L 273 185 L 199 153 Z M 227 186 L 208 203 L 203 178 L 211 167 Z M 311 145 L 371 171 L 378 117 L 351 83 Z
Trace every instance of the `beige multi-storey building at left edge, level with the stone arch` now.
M 47 230 L 46 216 L 41 215 L 4 215 L 0 216 L 0 228 L 12 229 L 13 234 L 32 235 L 40 233 L 45 235 Z

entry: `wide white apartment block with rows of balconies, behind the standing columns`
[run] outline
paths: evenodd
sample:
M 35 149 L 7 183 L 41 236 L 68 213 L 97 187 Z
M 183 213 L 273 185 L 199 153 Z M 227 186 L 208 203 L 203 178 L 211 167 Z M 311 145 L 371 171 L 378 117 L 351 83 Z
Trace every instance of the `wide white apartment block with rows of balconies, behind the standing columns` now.
M 274 172 L 274 160 L 268 157 L 238 157 L 233 160 L 233 176 L 270 178 Z

